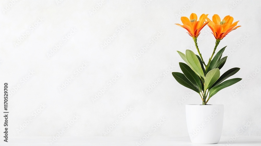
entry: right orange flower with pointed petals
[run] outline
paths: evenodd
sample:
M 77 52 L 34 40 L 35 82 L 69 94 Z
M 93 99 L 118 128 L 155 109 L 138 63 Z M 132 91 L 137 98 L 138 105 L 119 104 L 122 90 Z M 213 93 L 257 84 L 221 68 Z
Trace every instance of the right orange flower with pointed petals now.
M 209 18 L 206 19 L 207 21 L 209 21 L 207 25 L 212 30 L 212 34 L 215 36 L 217 40 L 222 40 L 229 32 L 240 27 L 235 27 L 239 21 L 233 23 L 234 18 L 229 15 L 224 17 L 222 21 L 220 20 L 220 17 L 217 14 L 213 15 L 212 21 Z

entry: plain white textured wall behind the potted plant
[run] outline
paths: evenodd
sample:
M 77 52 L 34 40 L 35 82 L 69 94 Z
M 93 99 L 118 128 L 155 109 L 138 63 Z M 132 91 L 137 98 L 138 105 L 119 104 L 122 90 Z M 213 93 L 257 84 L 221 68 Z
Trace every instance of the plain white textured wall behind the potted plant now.
M 177 50 L 196 51 L 186 30 L 174 25 L 181 23 L 180 16 L 189 17 L 191 13 L 209 14 L 210 18 L 213 14 L 222 18 L 230 15 L 235 21 L 240 20 L 242 27 L 229 33 L 218 50 L 228 46 L 224 54 L 229 57 L 221 74 L 239 67 L 241 70 L 234 77 L 243 79 L 221 90 L 209 104 L 225 106 L 223 136 L 261 136 L 261 73 L 257 70 L 261 67 L 260 1 L 166 0 L 144 5 L 145 0 L 107 0 L 90 15 L 100 2 L 19 0 L 8 9 L 6 5 L 11 1 L 1 1 L 0 87 L 8 82 L 9 92 L 13 90 L 8 102 L 9 136 L 53 136 L 63 128 L 64 136 L 103 136 L 103 131 L 119 120 L 106 136 L 140 137 L 153 131 L 152 126 L 161 118 L 166 121 L 153 131 L 154 136 L 188 136 L 185 105 L 201 104 L 201 99 L 177 83 L 171 72 L 181 71 L 178 62 L 182 59 Z M 71 29 L 76 30 L 72 35 Z M 15 45 L 26 32 L 25 39 Z M 163 34 L 152 44 L 150 40 L 158 32 Z M 102 49 L 101 45 L 113 34 L 116 37 Z M 65 41 L 65 35 L 71 37 Z M 215 38 L 207 26 L 200 36 L 198 45 L 207 60 Z M 59 42 L 63 45 L 48 57 L 47 53 Z M 143 53 L 146 45 L 149 48 Z M 143 54 L 135 60 L 138 52 Z M 84 62 L 87 67 L 74 74 Z M 30 71 L 35 72 L 31 77 Z M 168 74 L 163 75 L 164 72 Z M 120 77 L 113 79 L 118 73 Z M 59 87 L 71 76 L 72 82 L 60 92 Z M 110 80 L 115 81 L 111 86 Z M 156 80 L 160 82 L 146 93 Z M 107 90 L 93 102 L 92 98 L 104 87 Z M 41 104 L 46 107 L 40 111 Z M 119 117 L 129 106 L 133 108 L 131 112 Z M 3 104 L 0 108 L 3 110 Z M 37 110 L 40 113 L 35 117 L 32 113 Z M 80 118 L 66 127 L 75 115 Z M 17 132 L 29 118 L 32 121 Z M 240 131 L 247 121 L 252 124 Z

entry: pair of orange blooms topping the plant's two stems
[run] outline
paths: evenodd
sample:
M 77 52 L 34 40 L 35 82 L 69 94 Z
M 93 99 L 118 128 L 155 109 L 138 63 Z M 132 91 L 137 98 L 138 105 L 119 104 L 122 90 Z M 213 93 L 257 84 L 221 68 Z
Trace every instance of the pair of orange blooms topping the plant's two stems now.
M 239 21 L 233 23 L 234 19 L 229 15 L 224 17 L 222 21 L 217 14 L 213 15 L 212 21 L 207 18 L 207 15 L 208 14 L 202 14 L 198 20 L 197 15 L 195 13 L 192 13 L 189 19 L 187 17 L 181 17 L 181 22 L 183 23 L 183 25 L 176 25 L 185 28 L 188 31 L 188 34 L 193 38 L 197 38 L 200 34 L 201 29 L 205 25 L 208 25 L 212 31 L 212 34 L 217 40 L 222 40 L 229 32 L 240 27 L 236 26 Z

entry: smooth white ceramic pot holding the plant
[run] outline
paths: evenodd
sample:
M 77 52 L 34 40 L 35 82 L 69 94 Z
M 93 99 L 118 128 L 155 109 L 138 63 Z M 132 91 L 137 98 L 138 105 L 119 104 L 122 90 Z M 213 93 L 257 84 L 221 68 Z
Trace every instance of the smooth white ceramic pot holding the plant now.
M 221 137 L 224 105 L 186 105 L 186 119 L 192 143 L 215 144 Z

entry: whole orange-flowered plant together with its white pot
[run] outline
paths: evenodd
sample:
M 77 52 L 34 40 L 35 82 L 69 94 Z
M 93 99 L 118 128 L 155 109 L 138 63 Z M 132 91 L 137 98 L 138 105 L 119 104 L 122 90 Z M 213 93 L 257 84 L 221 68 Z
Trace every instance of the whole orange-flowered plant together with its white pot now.
M 220 41 L 231 31 L 240 27 L 236 26 L 238 21 L 233 23 L 233 17 L 226 16 L 223 20 L 215 14 L 212 21 L 202 14 L 199 19 L 192 13 L 190 18 L 181 17 L 183 25 L 176 24 L 185 28 L 193 38 L 198 55 L 191 50 L 185 53 L 177 51 L 185 63 L 180 62 L 183 72 L 172 72 L 174 78 L 181 85 L 197 92 L 202 100 L 202 105 L 186 105 L 186 120 L 189 137 L 192 143 L 214 144 L 220 141 L 224 105 L 208 105 L 209 99 L 218 91 L 231 86 L 241 80 L 241 78 L 228 77 L 234 75 L 240 68 L 232 68 L 220 76 L 220 69 L 226 63 L 227 56 L 222 57 L 226 47 L 221 48 L 216 54 L 216 49 Z M 201 29 L 208 25 L 212 34 L 216 38 L 216 44 L 211 57 L 205 63 L 198 48 L 197 37 Z M 214 56 L 215 54 L 215 56 Z M 226 80 L 226 81 L 225 81 Z

